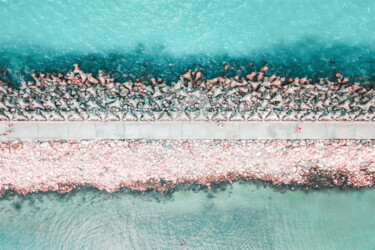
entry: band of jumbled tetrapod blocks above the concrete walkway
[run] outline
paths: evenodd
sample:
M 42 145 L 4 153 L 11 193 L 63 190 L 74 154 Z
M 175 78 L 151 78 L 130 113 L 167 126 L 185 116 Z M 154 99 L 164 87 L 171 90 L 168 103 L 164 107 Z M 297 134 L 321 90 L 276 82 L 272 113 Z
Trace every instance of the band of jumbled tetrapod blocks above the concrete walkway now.
M 225 70 L 229 66 L 225 66 Z M 205 79 L 186 70 L 177 82 L 118 82 L 110 74 L 33 74 L 0 82 L 0 121 L 373 121 L 375 90 L 339 73 L 312 81 L 267 75 Z

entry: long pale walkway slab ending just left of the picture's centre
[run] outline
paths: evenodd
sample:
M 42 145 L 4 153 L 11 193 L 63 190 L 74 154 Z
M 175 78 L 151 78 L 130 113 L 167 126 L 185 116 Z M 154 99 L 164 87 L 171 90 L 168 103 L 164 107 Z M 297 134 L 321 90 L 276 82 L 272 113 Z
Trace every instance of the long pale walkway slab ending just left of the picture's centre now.
M 126 139 L 179 139 L 181 137 L 182 123 L 125 123 Z

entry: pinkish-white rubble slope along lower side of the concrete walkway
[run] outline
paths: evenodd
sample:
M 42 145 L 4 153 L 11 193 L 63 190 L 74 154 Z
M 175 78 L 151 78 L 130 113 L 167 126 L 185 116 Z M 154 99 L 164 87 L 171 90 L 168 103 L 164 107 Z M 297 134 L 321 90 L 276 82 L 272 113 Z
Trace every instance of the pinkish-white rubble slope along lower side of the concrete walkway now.
M 239 178 L 290 188 L 375 181 L 375 140 L 13 140 L 1 143 L 0 153 L 0 193 L 69 192 L 77 185 L 164 192 Z

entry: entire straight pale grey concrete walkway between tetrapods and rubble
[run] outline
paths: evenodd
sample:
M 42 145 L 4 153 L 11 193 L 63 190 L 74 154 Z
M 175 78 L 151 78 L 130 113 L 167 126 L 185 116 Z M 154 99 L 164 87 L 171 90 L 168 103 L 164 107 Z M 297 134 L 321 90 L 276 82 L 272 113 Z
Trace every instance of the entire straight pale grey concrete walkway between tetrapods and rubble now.
M 6 139 L 375 139 L 375 122 L 0 122 Z

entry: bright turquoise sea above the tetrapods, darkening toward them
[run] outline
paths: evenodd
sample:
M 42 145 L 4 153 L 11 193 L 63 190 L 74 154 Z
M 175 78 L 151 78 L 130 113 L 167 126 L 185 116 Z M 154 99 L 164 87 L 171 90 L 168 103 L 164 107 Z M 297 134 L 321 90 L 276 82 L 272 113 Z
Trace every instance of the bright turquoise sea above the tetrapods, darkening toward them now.
M 185 67 L 216 76 L 223 60 L 228 74 L 267 61 L 289 76 L 375 76 L 372 0 L 2 0 L 0 16 L 11 81 L 75 62 L 145 78 L 175 79 Z

